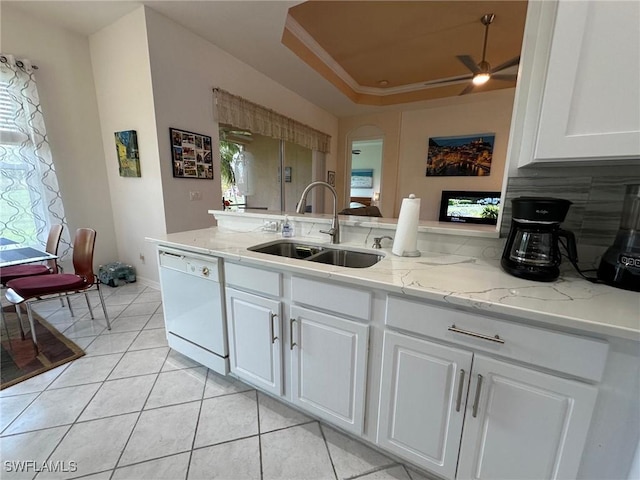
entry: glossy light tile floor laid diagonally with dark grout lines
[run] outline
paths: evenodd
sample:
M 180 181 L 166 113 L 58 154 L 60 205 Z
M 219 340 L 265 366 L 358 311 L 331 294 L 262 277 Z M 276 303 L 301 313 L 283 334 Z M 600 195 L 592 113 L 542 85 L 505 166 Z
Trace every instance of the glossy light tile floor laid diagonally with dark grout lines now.
M 111 331 L 81 297 L 39 304 L 86 356 L 0 392 L 2 479 L 425 478 L 172 351 L 157 290 L 104 292 Z

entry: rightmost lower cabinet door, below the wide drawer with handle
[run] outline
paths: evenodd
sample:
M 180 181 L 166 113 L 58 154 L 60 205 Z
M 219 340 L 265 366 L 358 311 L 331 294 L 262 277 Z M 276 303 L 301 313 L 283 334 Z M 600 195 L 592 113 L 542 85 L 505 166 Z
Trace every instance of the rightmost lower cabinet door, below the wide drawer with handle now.
M 459 479 L 576 478 L 597 389 L 476 355 Z

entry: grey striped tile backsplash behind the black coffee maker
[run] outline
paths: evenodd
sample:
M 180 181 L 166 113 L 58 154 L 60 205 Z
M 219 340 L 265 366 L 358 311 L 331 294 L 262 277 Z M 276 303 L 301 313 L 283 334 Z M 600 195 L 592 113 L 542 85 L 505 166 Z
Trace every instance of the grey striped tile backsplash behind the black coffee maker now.
M 579 250 L 601 254 L 613 243 L 620 226 L 625 186 L 637 183 L 640 183 L 640 175 L 511 177 L 507 183 L 500 234 L 506 236 L 509 232 L 513 198 L 564 198 L 572 205 L 562 228 L 575 234 Z

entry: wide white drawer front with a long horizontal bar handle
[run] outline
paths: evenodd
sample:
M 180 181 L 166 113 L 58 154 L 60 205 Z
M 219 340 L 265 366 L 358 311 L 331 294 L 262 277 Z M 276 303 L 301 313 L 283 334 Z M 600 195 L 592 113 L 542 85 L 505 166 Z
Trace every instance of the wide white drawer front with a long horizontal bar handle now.
M 496 320 L 391 295 L 387 297 L 385 323 L 389 327 L 596 382 L 602 379 L 609 350 L 609 344 L 602 340 Z M 482 338 L 471 334 L 479 334 Z

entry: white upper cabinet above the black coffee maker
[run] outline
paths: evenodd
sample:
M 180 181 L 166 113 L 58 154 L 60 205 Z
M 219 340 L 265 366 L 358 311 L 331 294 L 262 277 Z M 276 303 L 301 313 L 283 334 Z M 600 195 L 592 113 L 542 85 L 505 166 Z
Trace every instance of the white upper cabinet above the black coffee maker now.
M 640 2 L 533 3 L 514 116 L 524 130 L 518 166 L 640 162 Z

